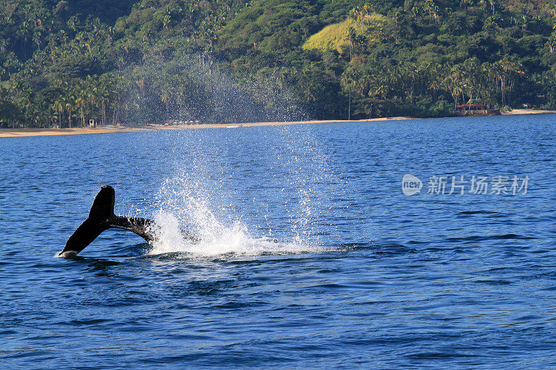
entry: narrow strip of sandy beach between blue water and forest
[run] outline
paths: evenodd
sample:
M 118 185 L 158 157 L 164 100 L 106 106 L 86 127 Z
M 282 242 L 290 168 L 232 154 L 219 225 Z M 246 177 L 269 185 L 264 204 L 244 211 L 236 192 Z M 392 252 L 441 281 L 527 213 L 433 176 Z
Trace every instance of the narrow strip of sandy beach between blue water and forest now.
M 514 109 L 504 112 L 502 115 L 542 115 L 554 114 L 554 110 L 534 110 L 534 109 Z M 193 125 L 172 125 L 165 126 L 154 124 L 141 127 L 127 126 L 104 126 L 104 127 L 80 127 L 80 128 L 0 128 L 1 137 L 30 137 L 30 136 L 57 136 L 57 135 L 90 135 L 101 133 L 132 133 L 138 131 L 165 131 L 165 130 L 184 130 L 189 128 L 235 128 L 235 127 L 254 127 L 254 126 L 282 126 L 292 124 L 327 124 L 333 122 L 373 122 L 373 121 L 402 121 L 409 119 L 420 119 L 415 117 L 383 117 L 369 119 L 325 119 L 311 121 L 286 121 L 286 122 L 247 122 L 234 124 L 193 124 Z

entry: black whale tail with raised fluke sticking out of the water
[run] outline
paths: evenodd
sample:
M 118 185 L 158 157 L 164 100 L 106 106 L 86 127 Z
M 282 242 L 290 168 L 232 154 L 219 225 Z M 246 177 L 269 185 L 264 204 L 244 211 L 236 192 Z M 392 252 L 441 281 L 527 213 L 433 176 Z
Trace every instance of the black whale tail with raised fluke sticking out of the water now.
M 147 242 L 153 242 L 152 234 L 154 221 L 142 217 L 121 217 L 114 214 L 115 191 L 109 185 L 102 185 L 99 194 L 92 202 L 89 217 L 83 221 L 77 230 L 67 239 L 65 248 L 57 257 L 76 255 L 92 243 L 104 230 L 121 228 L 136 233 Z M 184 237 L 190 242 L 199 242 L 199 239 L 186 230 L 181 230 Z

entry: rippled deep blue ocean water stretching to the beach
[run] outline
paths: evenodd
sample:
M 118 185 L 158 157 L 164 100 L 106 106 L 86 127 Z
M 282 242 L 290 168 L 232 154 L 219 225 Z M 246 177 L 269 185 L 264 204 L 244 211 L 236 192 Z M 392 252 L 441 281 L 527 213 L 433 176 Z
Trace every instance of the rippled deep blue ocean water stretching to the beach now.
M 0 367 L 555 368 L 555 118 L 0 139 Z

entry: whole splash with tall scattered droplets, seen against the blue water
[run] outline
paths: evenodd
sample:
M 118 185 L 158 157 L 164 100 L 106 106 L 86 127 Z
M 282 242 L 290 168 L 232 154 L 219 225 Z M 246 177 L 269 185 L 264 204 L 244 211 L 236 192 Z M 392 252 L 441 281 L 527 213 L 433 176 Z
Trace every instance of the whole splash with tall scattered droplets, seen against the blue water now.
M 238 146 L 239 133 L 252 139 Z M 331 245 L 348 198 L 309 126 L 187 131 L 173 139 L 166 144 L 175 149 L 174 169 L 150 208 L 157 242 L 148 253 L 318 253 Z

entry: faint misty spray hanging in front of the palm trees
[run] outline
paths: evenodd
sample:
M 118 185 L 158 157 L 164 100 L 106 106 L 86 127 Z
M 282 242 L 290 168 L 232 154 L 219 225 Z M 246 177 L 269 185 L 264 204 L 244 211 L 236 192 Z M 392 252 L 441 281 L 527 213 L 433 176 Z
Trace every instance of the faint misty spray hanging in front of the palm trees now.
M 280 78 L 284 71 L 278 68 L 253 77 L 231 72 L 229 64 L 216 56 L 200 62 L 205 53 L 184 45 L 164 47 L 174 50 L 171 63 L 154 49 L 140 60 L 122 60 L 122 121 L 222 123 L 310 117 L 304 104 L 284 87 Z

